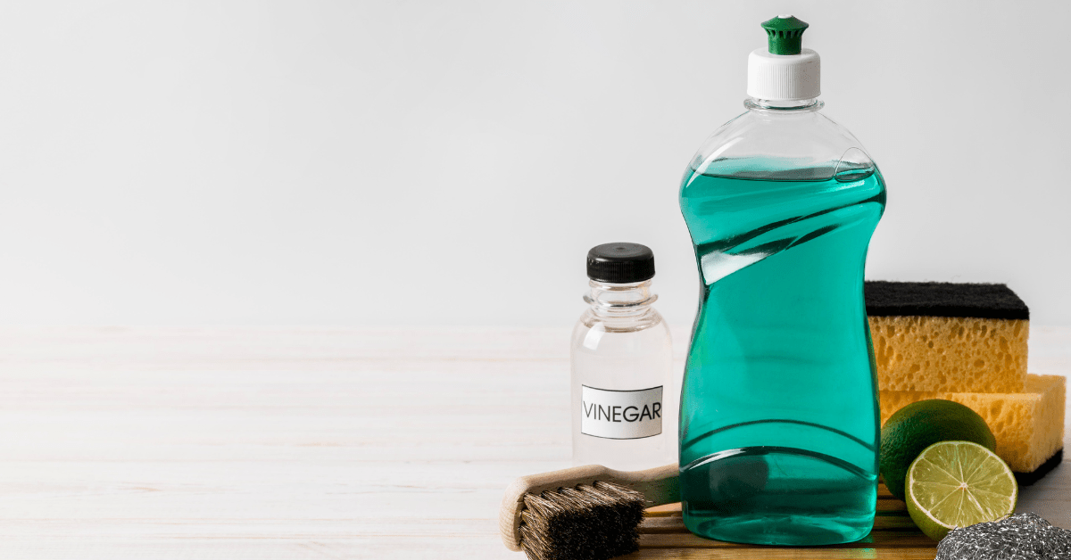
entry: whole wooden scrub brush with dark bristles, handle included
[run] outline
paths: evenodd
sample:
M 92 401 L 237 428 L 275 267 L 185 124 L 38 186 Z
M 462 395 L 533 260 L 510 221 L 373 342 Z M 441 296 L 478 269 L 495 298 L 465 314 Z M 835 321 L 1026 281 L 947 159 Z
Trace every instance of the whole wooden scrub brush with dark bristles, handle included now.
M 677 465 L 635 472 L 599 465 L 522 476 L 498 524 L 530 560 L 606 560 L 639 549 L 644 509 L 680 501 Z

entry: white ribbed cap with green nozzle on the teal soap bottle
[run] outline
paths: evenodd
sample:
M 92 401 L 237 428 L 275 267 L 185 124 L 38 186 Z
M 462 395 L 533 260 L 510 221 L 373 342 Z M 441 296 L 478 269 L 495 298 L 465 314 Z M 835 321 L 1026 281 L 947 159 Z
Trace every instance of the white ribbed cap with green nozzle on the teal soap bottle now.
M 755 49 L 748 57 L 748 95 L 769 101 L 820 95 L 821 60 L 814 50 L 800 48 L 806 22 L 781 15 L 764 21 L 763 27 L 769 35 L 769 47 Z

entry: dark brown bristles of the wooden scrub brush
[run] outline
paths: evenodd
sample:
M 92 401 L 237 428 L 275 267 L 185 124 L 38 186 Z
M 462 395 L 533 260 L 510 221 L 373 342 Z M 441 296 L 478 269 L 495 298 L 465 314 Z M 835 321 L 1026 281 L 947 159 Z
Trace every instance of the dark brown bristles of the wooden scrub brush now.
M 530 560 L 607 560 L 639 549 L 644 495 L 617 484 L 525 495 L 521 547 Z

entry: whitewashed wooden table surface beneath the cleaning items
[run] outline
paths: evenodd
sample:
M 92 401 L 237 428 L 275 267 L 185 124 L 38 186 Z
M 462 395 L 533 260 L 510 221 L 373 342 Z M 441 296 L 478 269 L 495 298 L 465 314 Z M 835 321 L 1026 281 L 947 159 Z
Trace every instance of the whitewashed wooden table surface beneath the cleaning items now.
M 569 466 L 569 333 L 0 329 L 0 559 L 523 560 L 496 515 Z M 1071 372 L 1071 328 L 1029 361 Z M 1069 502 L 1065 463 L 1020 510 Z

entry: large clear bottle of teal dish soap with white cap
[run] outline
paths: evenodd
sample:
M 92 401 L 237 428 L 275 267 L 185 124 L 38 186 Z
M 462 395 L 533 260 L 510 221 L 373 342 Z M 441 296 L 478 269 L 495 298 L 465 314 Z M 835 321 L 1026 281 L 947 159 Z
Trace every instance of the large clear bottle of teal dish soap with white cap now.
M 763 28 L 746 112 L 680 187 L 702 281 L 680 405 L 684 525 L 738 543 L 848 543 L 870 532 L 877 499 L 863 267 L 885 182 L 821 113 L 808 24 Z

